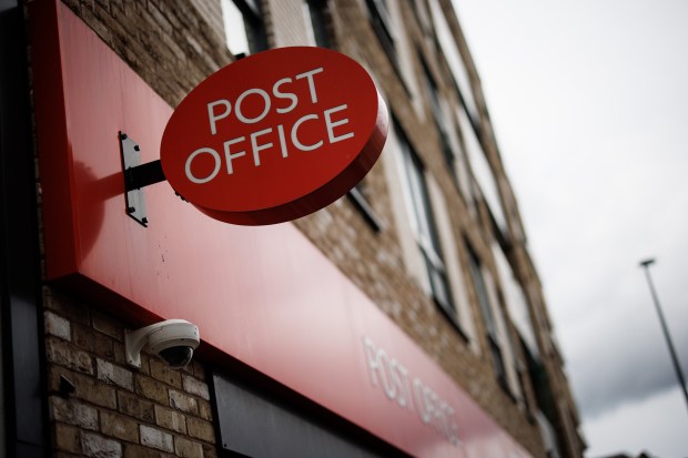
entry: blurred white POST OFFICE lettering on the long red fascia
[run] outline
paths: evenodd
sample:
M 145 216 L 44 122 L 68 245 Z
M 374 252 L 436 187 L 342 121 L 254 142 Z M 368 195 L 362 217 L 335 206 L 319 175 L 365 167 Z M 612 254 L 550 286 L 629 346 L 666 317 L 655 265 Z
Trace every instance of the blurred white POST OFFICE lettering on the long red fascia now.
M 461 447 L 458 425 L 454 408 L 442 399 L 419 377 L 413 377 L 398 359 L 387 355 L 367 336 L 363 337 L 363 349 L 371 384 L 382 389 L 387 399 L 408 413 L 416 413 L 418 420 Z

